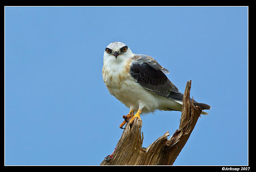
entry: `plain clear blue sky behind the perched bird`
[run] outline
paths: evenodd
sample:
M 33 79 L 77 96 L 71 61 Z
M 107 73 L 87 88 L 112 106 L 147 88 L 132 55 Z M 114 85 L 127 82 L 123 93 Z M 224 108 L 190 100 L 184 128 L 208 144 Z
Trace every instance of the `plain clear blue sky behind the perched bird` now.
M 129 109 L 102 80 L 114 41 L 207 103 L 174 165 L 248 164 L 247 7 L 5 7 L 5 164 L 99 165 Z M 180 112 L 142 116 L 143 147 Z

